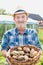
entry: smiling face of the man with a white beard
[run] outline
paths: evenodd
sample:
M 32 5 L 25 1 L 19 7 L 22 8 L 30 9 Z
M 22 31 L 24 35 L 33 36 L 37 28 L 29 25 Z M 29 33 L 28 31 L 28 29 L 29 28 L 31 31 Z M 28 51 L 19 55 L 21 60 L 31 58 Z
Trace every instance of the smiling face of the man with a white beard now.
M 16 22 L 16 26 L 19 29 L 25 28 L 26 27 L 26 22 L 27 22 L 27 15 L 25 13 L 19 13 L 15 15 L 15 22 Z

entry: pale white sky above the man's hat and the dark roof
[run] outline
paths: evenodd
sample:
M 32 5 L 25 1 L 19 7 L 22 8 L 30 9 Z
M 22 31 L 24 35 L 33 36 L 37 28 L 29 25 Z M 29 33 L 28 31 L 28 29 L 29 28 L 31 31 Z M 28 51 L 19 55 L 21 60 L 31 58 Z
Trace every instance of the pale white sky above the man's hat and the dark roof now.
M 0 9 L 6 9 L 9 13 L 14 13 L 19 6 L 43 17 L 43 0 L 0 0 Z

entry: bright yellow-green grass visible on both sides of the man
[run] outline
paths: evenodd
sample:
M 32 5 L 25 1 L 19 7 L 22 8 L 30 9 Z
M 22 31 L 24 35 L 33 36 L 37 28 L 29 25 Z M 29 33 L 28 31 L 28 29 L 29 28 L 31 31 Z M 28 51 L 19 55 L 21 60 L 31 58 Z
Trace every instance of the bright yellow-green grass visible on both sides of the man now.
M 43 29 L 39 29 L 38 35 L 39 35 L 39 39 L 40 39 L 41 46 L 43 49 Z M 6 59 L 2 56 L 2 53 L 0 51 L 0 65 L 6 65 L 6 64 L 7 64 Z M 43 65 L 43 52 L 41 55 L 40 62 L 37 65 Z

